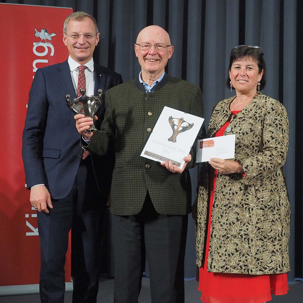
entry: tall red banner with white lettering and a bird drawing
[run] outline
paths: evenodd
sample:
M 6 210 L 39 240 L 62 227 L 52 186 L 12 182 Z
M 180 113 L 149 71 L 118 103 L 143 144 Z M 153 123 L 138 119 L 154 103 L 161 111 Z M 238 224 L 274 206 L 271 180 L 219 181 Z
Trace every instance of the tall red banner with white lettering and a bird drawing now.
M 2 125 L 0 148 L 0 286 L 39 283 L 36 211 L 29 203 L 21 157 L 28 92 L 37 68 L 68 57 L 67 8 L 0 3 Z M 7 130 L 7 132 L 6 132 Z M 69 256 L 70 254 L 68 254 Z M 70 281 L 70 260 L 67 260 Z

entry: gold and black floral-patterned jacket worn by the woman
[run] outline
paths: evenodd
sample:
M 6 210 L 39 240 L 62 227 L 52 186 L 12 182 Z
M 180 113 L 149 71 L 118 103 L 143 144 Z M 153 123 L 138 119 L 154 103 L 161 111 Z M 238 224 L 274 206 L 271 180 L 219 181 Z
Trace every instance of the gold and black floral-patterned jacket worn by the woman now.
M 230 116 L 234 97 L 213 109 L 208 137 Z M 290 204 L 282 166 L 288 149 L 288 118 L 277 100 L 258 94 L 231 118 L 235 158 L 246 175 L 218 173 L 211 218 L 208 271 L 278 274 L 289 269 Z M 196 249 L 201 266 L 208 216 L 207 166 L 201 168 L 197 197 Z

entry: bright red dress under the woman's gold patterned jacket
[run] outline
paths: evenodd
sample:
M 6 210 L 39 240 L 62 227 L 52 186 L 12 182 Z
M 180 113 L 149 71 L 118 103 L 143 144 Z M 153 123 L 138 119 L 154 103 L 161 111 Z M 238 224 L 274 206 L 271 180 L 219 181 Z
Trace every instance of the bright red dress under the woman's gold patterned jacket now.
M 230 123 L 231 117 L 239 111 L 231 112 L 228 121 L 218 130 L 216 137 L 223 136 Z M 288 290 L 286 274 L 245 275 L 223 274 L 207 271 L 210 246 L 211 217 L 214 191 L 218 171 L 212 170 L 209 176 L 210 212 L 206 242 L 206 255 L 203 266 L 199 269 L 199 287 L 204 303 L 262 303 L 272 299 L 275 295 L 285 294 Z

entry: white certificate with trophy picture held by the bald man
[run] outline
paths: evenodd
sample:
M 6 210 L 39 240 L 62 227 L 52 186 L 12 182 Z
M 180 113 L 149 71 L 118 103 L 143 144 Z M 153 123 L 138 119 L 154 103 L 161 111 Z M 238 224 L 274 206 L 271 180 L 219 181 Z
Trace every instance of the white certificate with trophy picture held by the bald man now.
M 172 161 L 182 169 L 203 121 L 165 106 L 140 156 L 160 163 Z

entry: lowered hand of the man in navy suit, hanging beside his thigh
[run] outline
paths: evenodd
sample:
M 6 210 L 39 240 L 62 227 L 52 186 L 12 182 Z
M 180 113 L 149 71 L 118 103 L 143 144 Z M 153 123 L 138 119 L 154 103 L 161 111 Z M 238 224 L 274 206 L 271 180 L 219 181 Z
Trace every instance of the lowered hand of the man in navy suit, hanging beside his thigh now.
M 30 204 L 38 212 L 49 213 L 48 208 L 52 209 L 51 195 L 49 194 L 45 185 L 37 185 L 30 189 Z

